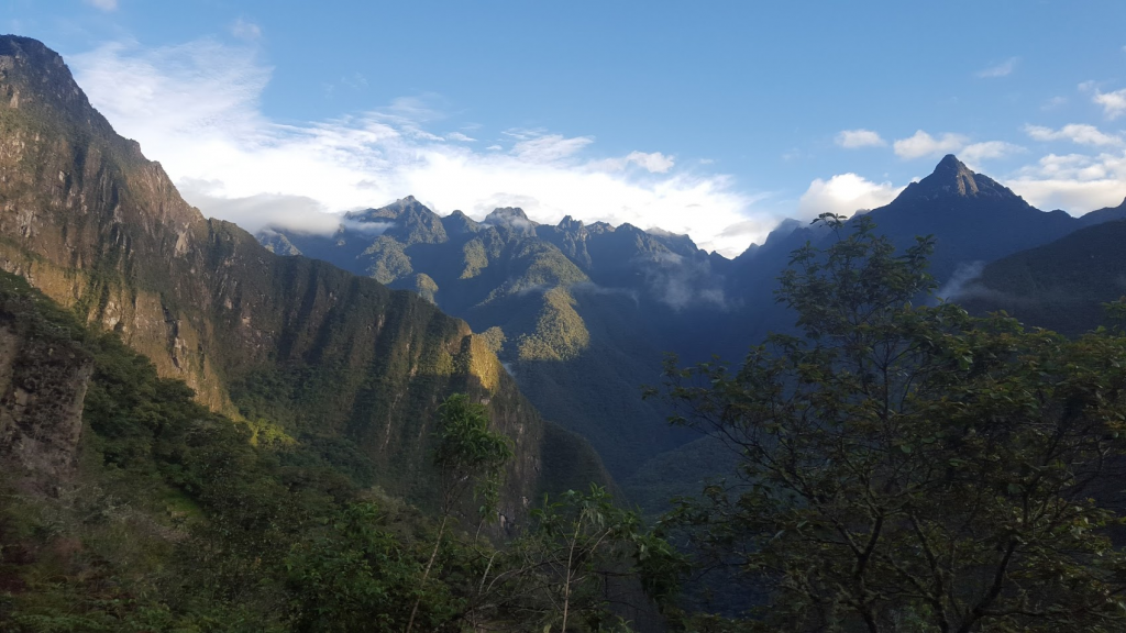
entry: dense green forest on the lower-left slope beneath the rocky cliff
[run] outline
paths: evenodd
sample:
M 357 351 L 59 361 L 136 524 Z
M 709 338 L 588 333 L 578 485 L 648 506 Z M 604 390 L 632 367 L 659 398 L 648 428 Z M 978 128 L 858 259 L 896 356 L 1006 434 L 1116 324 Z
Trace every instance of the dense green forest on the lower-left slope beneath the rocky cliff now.
M 497 516 L 511 456 L 508 439 L 490 430 L 488 409 L 464 394 L 439 409 L 434 460 L 449 492 L 439 524 L 373 487 L 375 469 L 351 443 L 294 438 L 271 431 L 277 424 L 267 418 L 241 424 L 213 413 L 115 335 L 91 333 L 7 274 L 0 321 L 55 349 L 81 350 L 53 363 L 93 366 L 73 476 L 0 485 L 0 630 L 397 633 L 413 612 L 420 631 L 472 623 L 526 631 L 531 621 L 563 617 L 544 595 L 525 591 L 533 579 L 543 591 L 558 582 L 575 588 L 572 622 L 574 614 L 587 623 L 615 617 L 601 594 L 579 590 L 588 577 L 528 567 L 537 551 L 530 543 L 546 542 L 547 523 L 498 549 L 473 529 L 475 520 L 458 520 L 466 487 L 476 490 L 481 514 Z M 636 516 L 599 496 L 599 511 L 616 512 L 631 542 L 667 550 Z M 570 509 L 580 499 L 545 507 L 589 524 L 590 510 Z M 604 541 L 597 564 L 582 564 L 626 572 L 641 564 L 637 546 L 611 542 Z

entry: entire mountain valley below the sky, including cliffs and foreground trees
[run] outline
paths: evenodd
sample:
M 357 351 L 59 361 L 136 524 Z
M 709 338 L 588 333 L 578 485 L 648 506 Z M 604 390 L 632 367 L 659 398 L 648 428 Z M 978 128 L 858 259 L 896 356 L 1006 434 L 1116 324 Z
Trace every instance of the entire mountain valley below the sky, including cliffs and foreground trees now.
M 206 217 L 0 36 L 0 627 L 1121 625 L 1126 202 L 334 211 Z

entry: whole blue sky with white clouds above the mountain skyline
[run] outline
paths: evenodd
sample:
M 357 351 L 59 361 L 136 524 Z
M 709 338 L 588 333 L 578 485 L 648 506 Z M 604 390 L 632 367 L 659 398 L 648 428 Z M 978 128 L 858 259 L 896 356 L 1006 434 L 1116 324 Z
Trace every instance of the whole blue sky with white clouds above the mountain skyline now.
M 0 0 L 208 215 L 409 194 L 688 232 L 878 206 L 954 152 L 1042 208 L 1126 196 L 1126 2 Z

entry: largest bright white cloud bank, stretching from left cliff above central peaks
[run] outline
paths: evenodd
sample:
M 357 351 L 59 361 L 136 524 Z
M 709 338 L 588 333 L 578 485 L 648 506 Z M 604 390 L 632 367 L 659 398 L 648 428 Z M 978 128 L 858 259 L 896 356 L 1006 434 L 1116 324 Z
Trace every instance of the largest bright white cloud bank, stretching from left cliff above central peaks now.
M 726 255 L 761 240 L 776 222 L 763 221 L 758 233 L 725 232 L 757 217 L 753 198 L 730 177 L 676 170 L 661 152 L 595 160 L 587 155 L 590 136 L 526 130 L 507 131 L 507 141 L 485 151 L 453 134 L 443 140 L 423 128 L 440 118 L 425 99 L 280 124 L 259 107 L 270 69 L 252 47 L 207 39 L 155 50 L 110 44 L 70 62 L 95 106 L 161 161 L 189 203 L 248 229 L 268 223 L 270 208 L 315 229 L 324 224 L 315 213 L 409 194 L 439 213 L 461 208 L 477 219 L 518 204 L 537 222 L 570 214 L 661 226 Z M 606 161 L 640 169 L 611 169 Z

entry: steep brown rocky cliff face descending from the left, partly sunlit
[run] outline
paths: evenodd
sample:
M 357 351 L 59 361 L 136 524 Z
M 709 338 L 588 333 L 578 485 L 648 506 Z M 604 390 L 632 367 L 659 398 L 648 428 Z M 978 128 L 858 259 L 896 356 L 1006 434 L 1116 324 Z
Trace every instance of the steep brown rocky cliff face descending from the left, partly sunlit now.
M 551 434 L 464 322 L 204 219 L 90 107 L 57 54 L 10 36 L 0 37 L 0 267 L 118 331 L 214 410 L 355 439 L 392 492 L 429 497 L 432 413 L 450 391 L 488 400 L 516 443 L 510 511 L 552 476 L 539 458 Z

